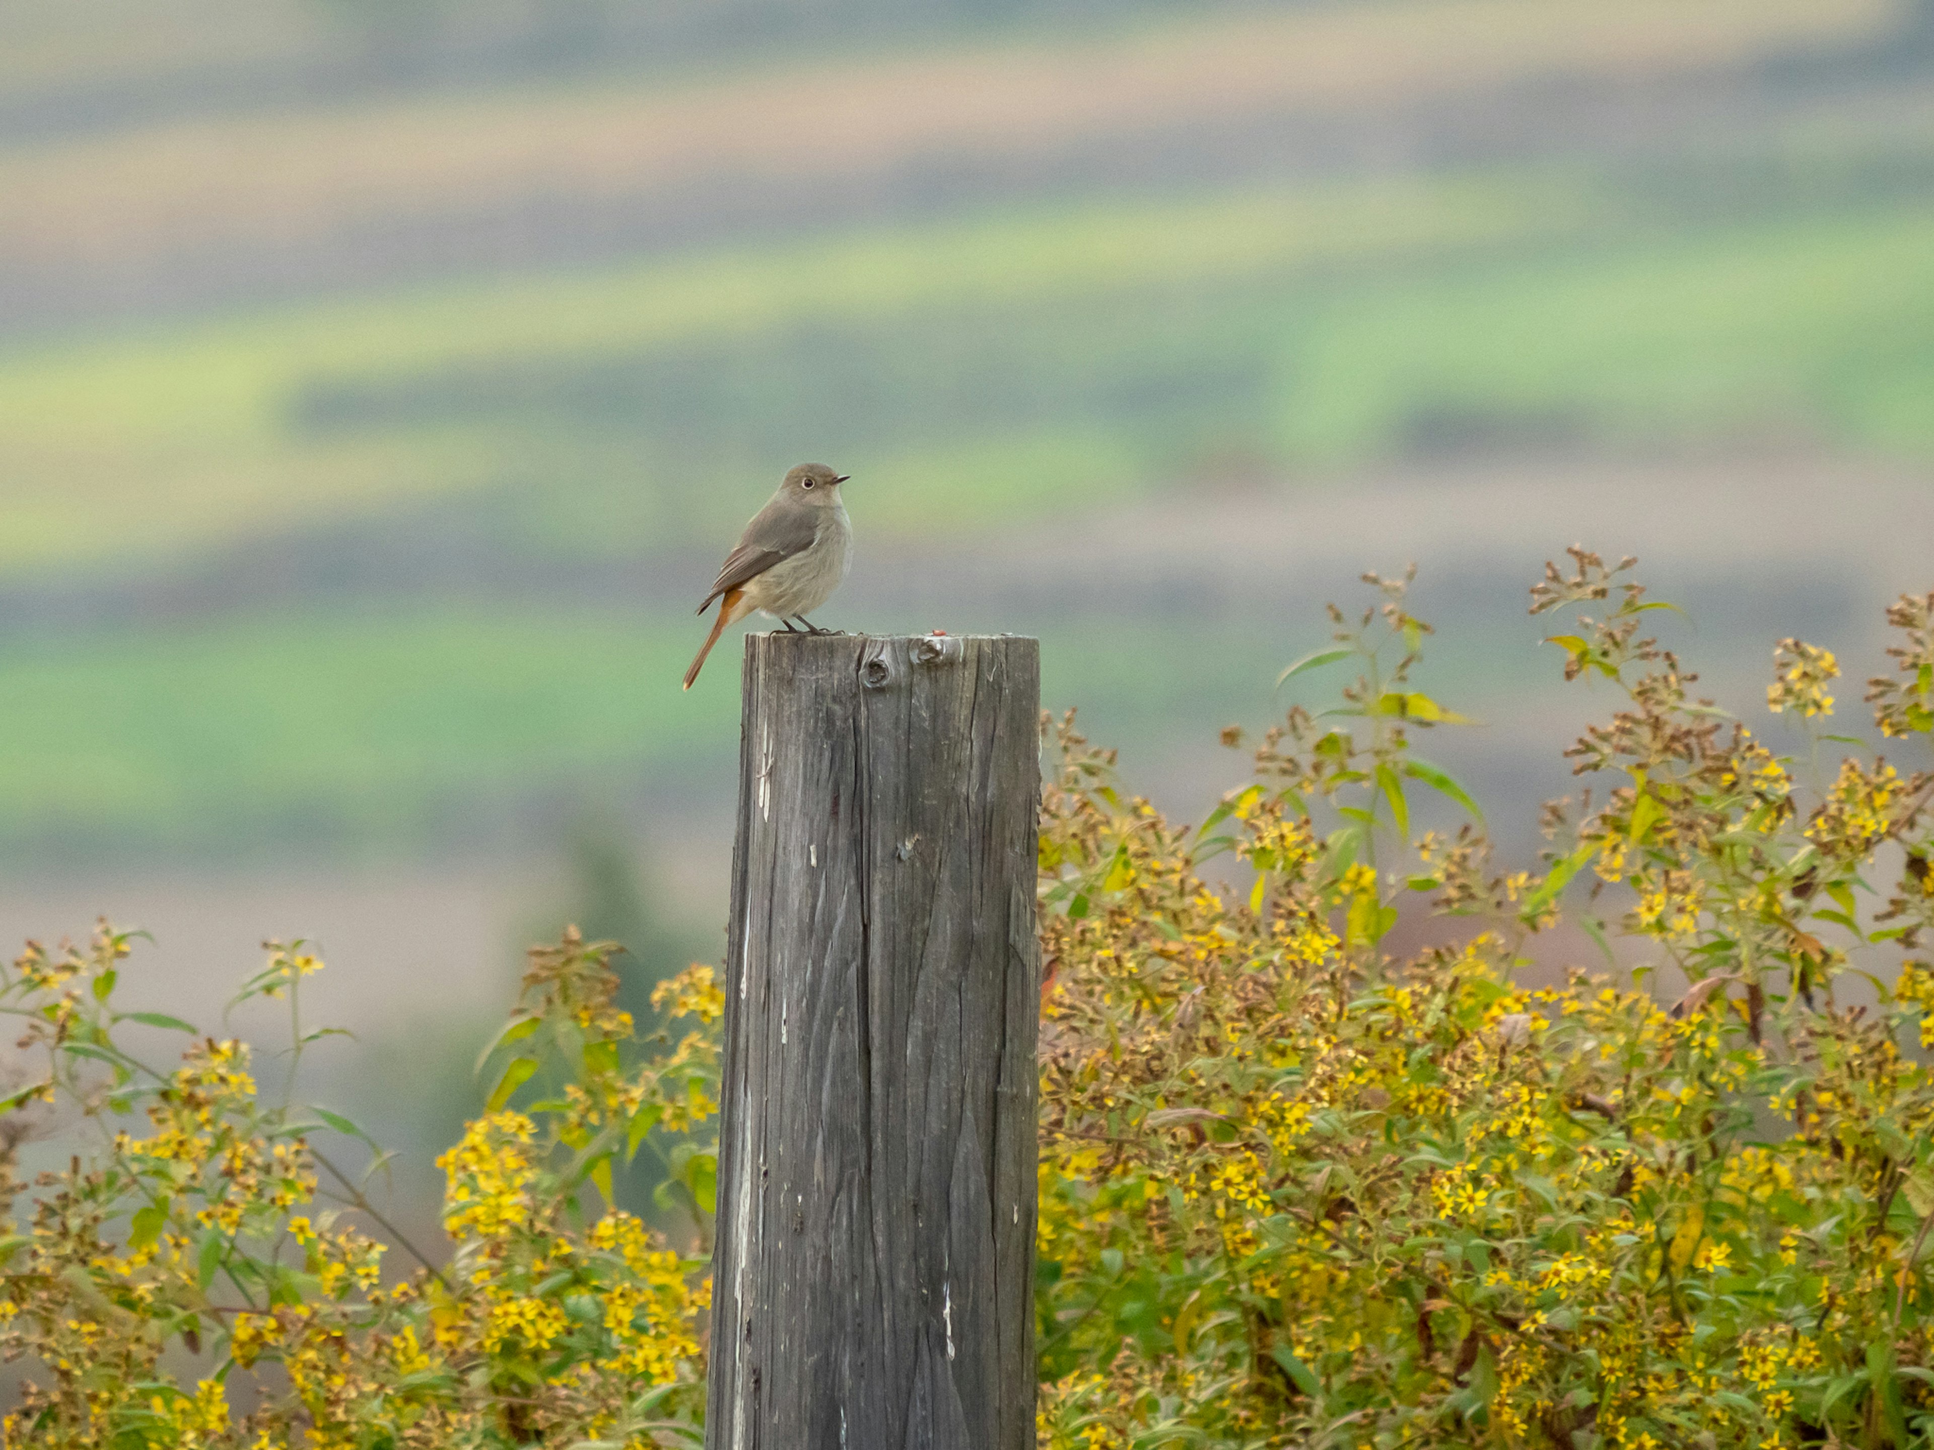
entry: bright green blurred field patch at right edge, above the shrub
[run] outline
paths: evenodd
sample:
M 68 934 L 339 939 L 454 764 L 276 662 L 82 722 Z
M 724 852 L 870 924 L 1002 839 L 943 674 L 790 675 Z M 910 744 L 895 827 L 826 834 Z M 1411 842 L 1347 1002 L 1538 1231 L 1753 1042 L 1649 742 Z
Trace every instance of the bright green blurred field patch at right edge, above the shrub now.
M 1367 456 L 1425 408 L 1613 439 L 1772 427 L 1934 456 L 1934 207 L 1810 217 L 1398 284 L 1294 360 L 1284 447 Z

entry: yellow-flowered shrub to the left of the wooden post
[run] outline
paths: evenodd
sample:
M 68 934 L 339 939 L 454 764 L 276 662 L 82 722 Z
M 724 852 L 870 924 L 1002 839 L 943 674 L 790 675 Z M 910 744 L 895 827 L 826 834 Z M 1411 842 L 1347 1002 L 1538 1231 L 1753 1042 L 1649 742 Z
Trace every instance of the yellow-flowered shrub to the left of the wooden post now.
M 300 943 L 269 951 L 242 998 L 286 996 L 294 1011 L 321 963 Z M 0 1239 L 0 1348 L 37 1361 L 6 1415 L 8 1446 L 698 1440 L 704 1264 L 611 1206 L 611 1162 L 654 1129 L 712 1116 L 723 1000 L 710 969 L 659 998 L 698 1029 L 627 1061 L 609 945 L 572 934 L 532 953 L 491 1048 L 507 1063 L 489 1114 L 439 1160 L 456 1251 L 433 1264 L 317 1146 L 352 1123 L 265 1104 L 242 1042 L 116 1009 L 128 953 L 130 936 L 103 928 L 91 951 L 29 945 L 0 974 L 0 1007 L 44 1063 L 8 1108 L 62 1104 L 101 1129 L 97 1152 L 43 1175 L 29 1220 Z M 130 1021 L 188 1032 L 180 1065 L 130 1052 Z M 292 1021 L 298 1050 L 319 1036 Z M 509 1110 L 545 1067 L 557 1094 Z M 122 1125 L 137 1117 L 139 1137 Z M 683 1154 L 687 1177 L 702 1158 Z M 12 1206 L 12 1152 L 6 1168 Z M 418 1262 L 385 1288 L 398 1251 Z M 182 1373 L 197 1355 L 207 1373 Z

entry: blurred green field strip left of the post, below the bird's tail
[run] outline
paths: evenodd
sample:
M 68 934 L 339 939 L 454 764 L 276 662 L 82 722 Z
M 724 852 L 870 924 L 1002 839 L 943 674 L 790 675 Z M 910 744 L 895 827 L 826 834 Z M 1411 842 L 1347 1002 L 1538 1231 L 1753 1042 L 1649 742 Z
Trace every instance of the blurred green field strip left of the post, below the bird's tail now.
M 462 802 L 480 783 L 590 798 L 642 758 L 710 760 L 733 711 L 725 690 L 679 696 L 689 632 L 445 605 L 0 648 L 6 833 L 106 858 L 449 845 L 478 826 Z

